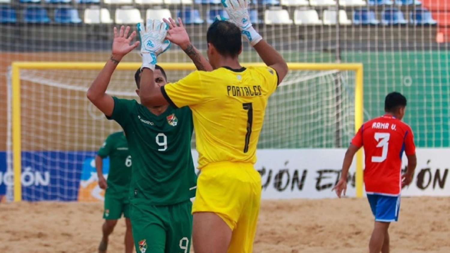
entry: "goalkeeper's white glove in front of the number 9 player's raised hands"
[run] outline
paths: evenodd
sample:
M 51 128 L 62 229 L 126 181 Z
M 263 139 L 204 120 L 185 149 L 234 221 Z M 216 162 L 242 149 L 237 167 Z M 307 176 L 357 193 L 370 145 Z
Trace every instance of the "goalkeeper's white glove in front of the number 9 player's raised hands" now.
M 169 26 L 159 20 L 147 19 L 147 25 L 136 25 L 141 44 L 142 66 L 155 70 L 156 58 L 171 46 L 170 41 L 165 40 Z

